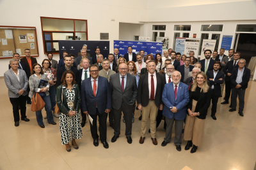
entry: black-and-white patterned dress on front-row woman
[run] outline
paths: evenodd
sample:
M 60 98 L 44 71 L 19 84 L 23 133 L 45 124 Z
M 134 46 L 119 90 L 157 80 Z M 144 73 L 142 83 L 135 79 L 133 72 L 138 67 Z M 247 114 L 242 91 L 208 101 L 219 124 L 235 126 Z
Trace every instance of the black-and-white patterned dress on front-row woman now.
M 66 92 L 67 103 L 75 101 L 75 85 L 73 85 L 70 91 L 63 85 L 63 92 Z M 72 106 L 68 106 L 69 110 L 72 110 Z M 65 145 L 71 142 L 73 139 L 81 139 L 82 128 L 79 113 L 76 113 L 73 117 L 60 112 L 60 132 L 61 132 L 61 144 Z

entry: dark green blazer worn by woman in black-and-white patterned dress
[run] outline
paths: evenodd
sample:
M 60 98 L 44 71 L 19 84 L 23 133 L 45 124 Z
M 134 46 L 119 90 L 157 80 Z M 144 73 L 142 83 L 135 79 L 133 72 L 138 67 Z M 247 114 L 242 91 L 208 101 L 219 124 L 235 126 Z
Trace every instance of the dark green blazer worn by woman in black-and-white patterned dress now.
M 80 106 L 81 106 L 81 94 L 78 89 L 78 85 L 73 85 L 75 91 L 75 100 L 74 100 L 74 110 L 76 113 L 79 113 Z M 63 89 L 63 100 L 61 99 L 61 92 Z M 66 96 L 66 87 L 65 86 L 58 86 L 56 89 L 56 101 L 57 106 L 60 109 L 60 112 L 67 115 L 69 112 L 68 104 L 67 104 L 67 96 Z

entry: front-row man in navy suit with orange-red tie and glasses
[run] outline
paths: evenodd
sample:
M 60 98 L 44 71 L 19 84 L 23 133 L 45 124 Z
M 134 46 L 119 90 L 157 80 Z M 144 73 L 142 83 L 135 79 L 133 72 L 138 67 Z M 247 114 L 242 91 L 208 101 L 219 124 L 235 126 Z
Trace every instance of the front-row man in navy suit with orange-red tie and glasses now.
M 81 105 L 83 113 L 90 115 L 93 122 L 90 124 L 93 145 L 99 146 L 97 132 L 97 116 L 99 117 L 100 141 L 104 148 L 109 148 L 107 139 L 107 118 L 111 110 L 111 90 L 108 79 L 99 76 L 99 68 L 90 66 L 91 78 L 83 80 L 81 92 Z

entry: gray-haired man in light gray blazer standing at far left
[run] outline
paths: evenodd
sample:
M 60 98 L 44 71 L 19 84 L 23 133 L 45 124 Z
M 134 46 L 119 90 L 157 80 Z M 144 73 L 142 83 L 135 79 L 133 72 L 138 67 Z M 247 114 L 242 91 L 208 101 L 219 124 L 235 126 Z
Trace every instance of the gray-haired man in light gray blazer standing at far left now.
M 16 59 L 10 60 L 11 68 L 4 73 L 4 81 L 8 88 L 8 96 L 13 108 L 15 126 L 19 126 L 19 106 L 21 120 L 29 122 L 26 117 L 26 96 L 28 95 L 28 78 L 22 69 L 18 69 L 19 62 Z

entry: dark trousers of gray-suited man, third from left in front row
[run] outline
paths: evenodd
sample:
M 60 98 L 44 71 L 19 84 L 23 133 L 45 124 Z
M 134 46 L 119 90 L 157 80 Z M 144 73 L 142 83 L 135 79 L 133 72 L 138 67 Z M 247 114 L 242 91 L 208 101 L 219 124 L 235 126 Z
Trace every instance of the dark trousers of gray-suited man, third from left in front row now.
M 115 110 L 113 108 L 114 134 L 115 136 L 120 135 L 120 121 L 121 121 L 122 111 L 124 113 L 124 118 L 125 118 L 125 136 L 131 137 L 133 105 L 130 108 L 126 108 L 124 103 L 121 104 L 121 107 L 118 110 Z

